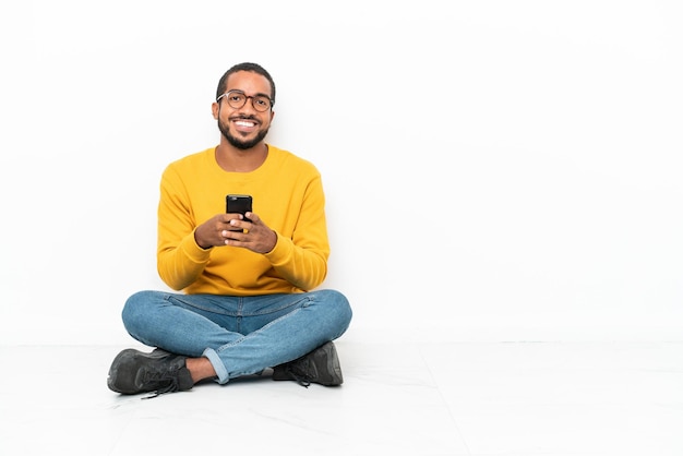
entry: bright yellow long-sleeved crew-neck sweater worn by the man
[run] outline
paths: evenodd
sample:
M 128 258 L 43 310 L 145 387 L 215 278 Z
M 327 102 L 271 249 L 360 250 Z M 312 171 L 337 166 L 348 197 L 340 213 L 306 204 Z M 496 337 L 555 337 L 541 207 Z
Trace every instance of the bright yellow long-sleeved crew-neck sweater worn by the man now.
M 229 193 L 250 194 L 253 212 L 277 232 L 275 248 L 200 248 L 195 228 L 225 213 Z M 157 269 L 175 290 L 230 296 L 301 292 L 327 274 L 329 244 L 321 176 L 309 161 L 268 145 L 251 172 L 227 172 L 215 147 L 171 163 L 161 176 Z

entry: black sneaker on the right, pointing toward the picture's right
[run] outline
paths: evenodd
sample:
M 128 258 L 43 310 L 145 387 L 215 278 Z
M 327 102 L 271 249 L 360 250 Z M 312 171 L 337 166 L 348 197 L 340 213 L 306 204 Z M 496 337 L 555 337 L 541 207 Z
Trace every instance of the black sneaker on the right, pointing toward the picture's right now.
M 276 365 L 273 380 L 295 380 L 307 388 L 311 383 L 337 386 L 344 382 L 337 350 L 331 341 L 301 358 Z

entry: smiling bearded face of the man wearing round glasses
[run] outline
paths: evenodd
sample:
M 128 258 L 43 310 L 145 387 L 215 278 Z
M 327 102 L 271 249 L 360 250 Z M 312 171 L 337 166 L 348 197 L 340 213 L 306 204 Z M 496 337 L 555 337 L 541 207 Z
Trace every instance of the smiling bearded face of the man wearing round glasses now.
M 241 91 L 247 96 L 271 96 L 268 80 L 250 71 L 238 71 L 226 81 L 226 89 Z M 233 147 L 248 149 L 261 143 L 271 128 L 272 109 L 259 112 L 254 109 L 253 98 L 248 98 L 241 108 L 232 108 L 225 97 L 212 105 L 214 119 L 218 121 L 218 130 Z

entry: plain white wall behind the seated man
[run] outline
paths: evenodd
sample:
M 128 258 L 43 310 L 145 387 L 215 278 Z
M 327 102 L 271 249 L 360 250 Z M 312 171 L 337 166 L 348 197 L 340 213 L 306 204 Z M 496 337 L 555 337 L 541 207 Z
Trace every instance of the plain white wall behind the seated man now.
M 132 343 L 160 173 L 240 61 L 323 172 L 347 337 L 681 340 L 680 4 L 3 5 L 0 343 Z

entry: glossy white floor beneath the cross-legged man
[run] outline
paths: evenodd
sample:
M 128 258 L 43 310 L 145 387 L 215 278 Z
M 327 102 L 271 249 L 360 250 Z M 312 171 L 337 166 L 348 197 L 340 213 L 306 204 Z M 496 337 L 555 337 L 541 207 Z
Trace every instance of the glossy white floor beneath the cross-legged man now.
M 683 455 L 680 343 L 336 345 L 340 387 L 149 400 L 107 389 L 128 347 L 2 347 L 0 454 Z

